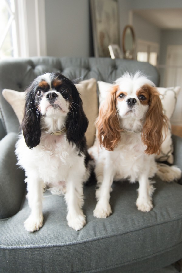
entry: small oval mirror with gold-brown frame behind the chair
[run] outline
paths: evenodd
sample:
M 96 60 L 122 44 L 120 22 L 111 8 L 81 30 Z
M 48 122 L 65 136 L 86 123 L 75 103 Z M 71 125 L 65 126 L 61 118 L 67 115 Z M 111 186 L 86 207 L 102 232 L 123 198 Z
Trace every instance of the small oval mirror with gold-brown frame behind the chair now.
M 123 30 L 123 53 L 125 59 L 134 59 L 135 53 L 135 33 L 131 25 L 126 25 Z

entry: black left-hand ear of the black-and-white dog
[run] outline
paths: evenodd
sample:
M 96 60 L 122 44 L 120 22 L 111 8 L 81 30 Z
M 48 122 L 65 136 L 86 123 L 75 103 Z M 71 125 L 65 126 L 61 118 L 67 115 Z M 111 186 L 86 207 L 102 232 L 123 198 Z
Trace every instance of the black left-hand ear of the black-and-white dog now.
M 22 131 L 26 145 L 32 149 L 40 143 L 40 118 L 36 115 L 37 107 L 33 97 L 33 84 L 27 89 Z

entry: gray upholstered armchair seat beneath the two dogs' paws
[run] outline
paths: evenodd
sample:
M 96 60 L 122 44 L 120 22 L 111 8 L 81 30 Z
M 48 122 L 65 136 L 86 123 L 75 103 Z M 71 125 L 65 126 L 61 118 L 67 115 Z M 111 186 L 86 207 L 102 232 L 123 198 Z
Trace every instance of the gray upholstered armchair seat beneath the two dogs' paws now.
M 64 197 L 46 191 L 44 225 L 39 231 L 27 232 L 23 222 L 29 216 L 30 208 L 25 200 L 22 209 L 0 225 L 2 272 L 10 272 L 13 268 L 16 272 L 97 272 L 128 265 L 131 271 L 118 272 L 143 273 L 150 272 L 148 260 L 152 258 L 157 257 L 153 268 L 175 261 L 171 256 L 163 265 L 160 255 L 178 247 L 180 259 L 182 186 L 156 181 L 154 207 L 150 212 L 136 208 L 138 183 L 113 183 L 110 198 L 113 214 L 106 219 L 93 216 L 95 185 L 85 186 L 86 225 L 80 231 L 67 225 Z M 133 263 L 142 261 L 148 270 L 132 271 Z

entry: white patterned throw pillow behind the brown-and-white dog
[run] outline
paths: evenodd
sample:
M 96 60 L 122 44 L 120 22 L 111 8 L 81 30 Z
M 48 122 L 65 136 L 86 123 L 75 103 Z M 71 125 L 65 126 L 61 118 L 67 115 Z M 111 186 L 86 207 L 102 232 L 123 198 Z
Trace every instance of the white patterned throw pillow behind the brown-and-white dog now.
M 106 94 L 107 92 L 109 92 L 113 84 L 102 82 L 102 81 L 98 81 L 97 83 L 99 87 L 99 104 L 100 104 L 101 102 L 105 100 Z M 157 87 L 157 90 L 161 94 L 160 98 L 161 98 L 161 102 L 163 106 L 163 112 L 170 120 L 174 112 L 174 108 L 177 101 L 177 95 L 180 91 L 180 86 L 169 87 L 169 88 Z M 173 153 L 173 143 L 171 138 L 171 124 L 169 122 L 167 136 L 162 143 L 161 153 L 159 155 L 156 155 L 156 160 L 160 162 L 167 161 L 170 164 L 173 164 L 174 159 L 173 159 L 172 153 Z

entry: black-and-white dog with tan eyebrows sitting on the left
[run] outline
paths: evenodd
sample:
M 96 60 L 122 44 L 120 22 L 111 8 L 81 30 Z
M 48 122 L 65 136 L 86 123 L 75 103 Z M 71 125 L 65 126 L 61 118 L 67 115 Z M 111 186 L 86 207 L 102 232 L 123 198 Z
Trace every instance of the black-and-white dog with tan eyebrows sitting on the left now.
M 26 93 L 22 133 L 16 144 L 18 165 L 25 170 L 31 213 L 27 231 L 43 225 L 42 194 L 46 185 L 62 191 L 67 203 L 69 227 L 85 223 L 83 182 L 89 178 L 92 161 L 85 132 L 88 120 L 76 86 L 58 72 L 36 78 Z

